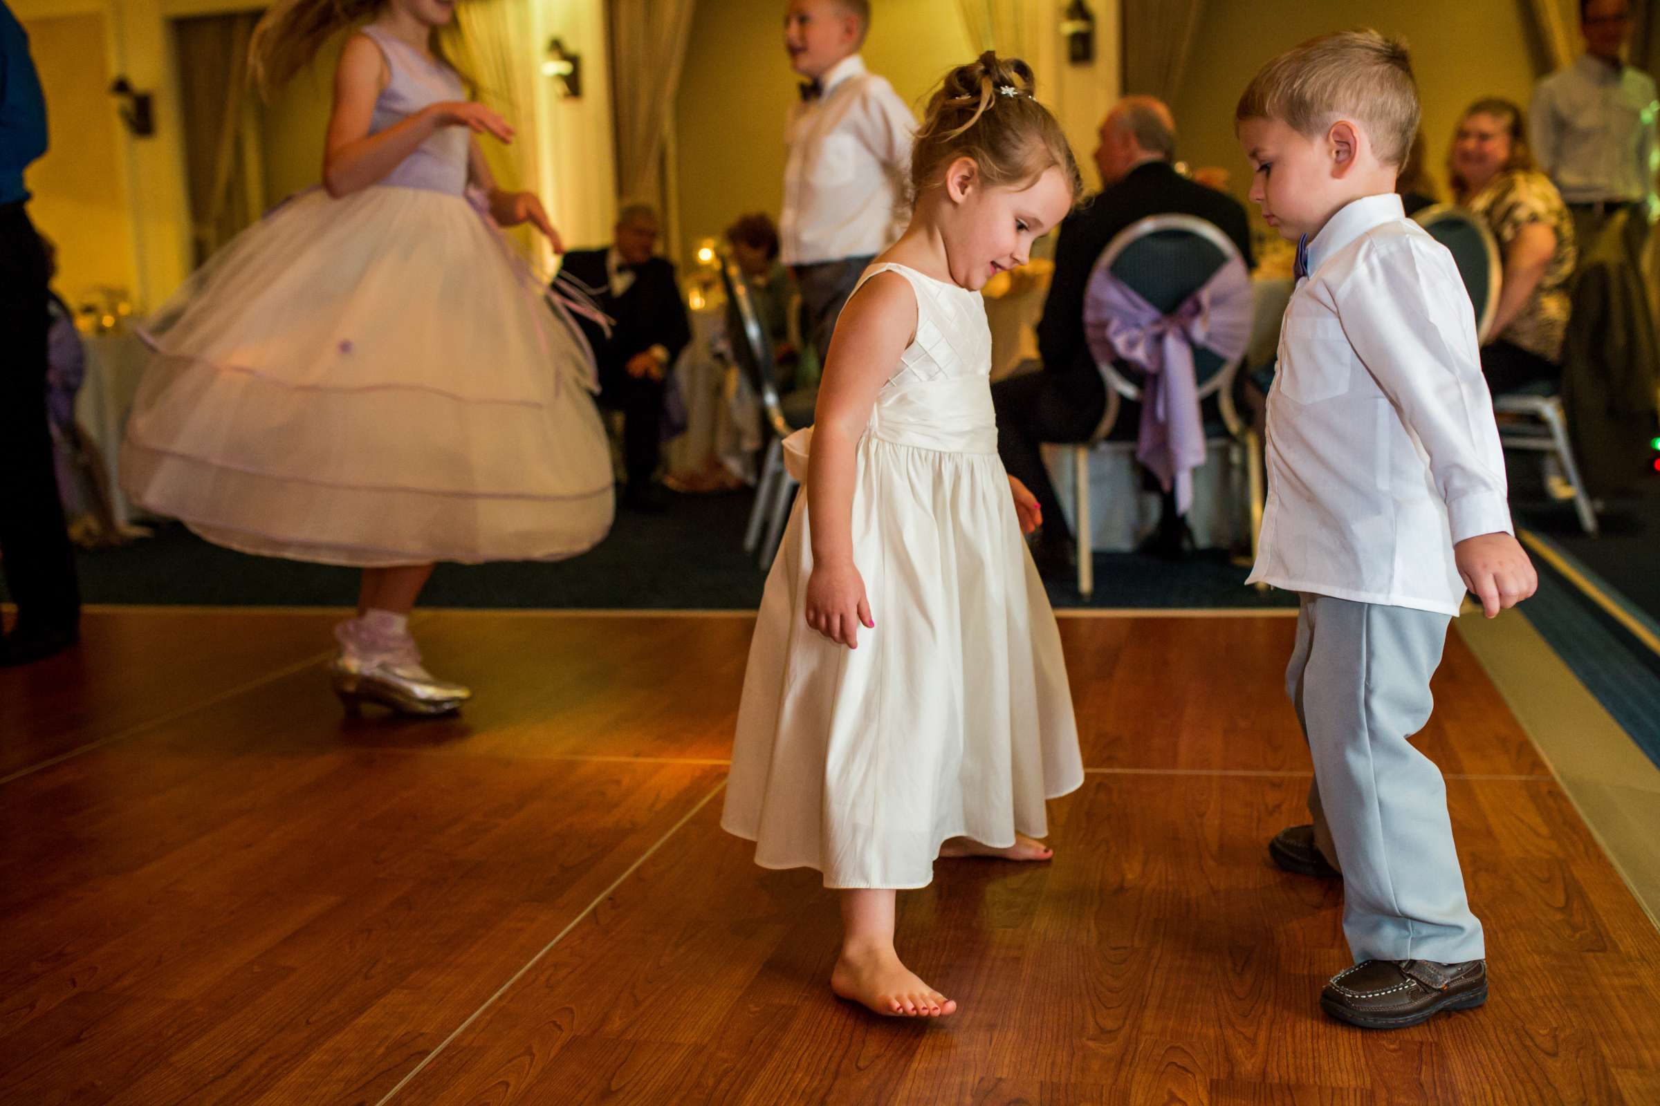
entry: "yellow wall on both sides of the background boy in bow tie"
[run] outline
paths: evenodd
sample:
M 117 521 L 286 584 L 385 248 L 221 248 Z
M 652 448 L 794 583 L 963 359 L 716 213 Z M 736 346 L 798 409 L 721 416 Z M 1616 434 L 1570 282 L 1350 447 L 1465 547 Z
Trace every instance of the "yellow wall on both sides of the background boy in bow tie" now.
M 865 61 L 921 113 L 935 81 L 973 58 L 958 0 L 885 0 Z M 750 211 L 779 217 L 784 116 L 798 78 L 784 56 L 784 0 L 699 3 L 676 101 L 681 257 Z

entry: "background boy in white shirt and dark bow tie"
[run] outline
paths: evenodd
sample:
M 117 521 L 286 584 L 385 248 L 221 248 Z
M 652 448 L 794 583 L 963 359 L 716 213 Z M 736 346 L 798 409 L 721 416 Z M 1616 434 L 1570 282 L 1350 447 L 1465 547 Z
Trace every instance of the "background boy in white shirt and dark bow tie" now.
M 790 108 L 779 247 L 802 290 L 803 332 L 830 350 L 830 332 L 870 260 L 910 217 L 916 118 L 886 80 L 868 73 L 858 48 L 870 30 L 868 0 L 790 0 L 784 48 L 802 75 Z

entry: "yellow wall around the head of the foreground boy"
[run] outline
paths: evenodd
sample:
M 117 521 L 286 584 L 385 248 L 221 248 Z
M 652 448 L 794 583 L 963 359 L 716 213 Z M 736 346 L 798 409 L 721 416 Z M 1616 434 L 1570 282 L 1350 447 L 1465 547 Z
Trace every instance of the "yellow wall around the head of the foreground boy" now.
M 1537 80 L 1527 0 L 1326 0 L 1205 5 L 1187 80 L 1172 104 L 1180 156 L 1192 166 L 1223 166 L 1245 197 L 1250 166 L 1233 141 L 1233 104 L 1257 68 L 1305 38 L 1350 27 L 1399 35 L 1413 53 L 1424 104 L 1428 169 L 1446 199 L 1446 154 L 1459 113 L 1481 96 L 1507 96 L 1524 108 Z M 1577 38 L 1575 38 L 1577 41 Z

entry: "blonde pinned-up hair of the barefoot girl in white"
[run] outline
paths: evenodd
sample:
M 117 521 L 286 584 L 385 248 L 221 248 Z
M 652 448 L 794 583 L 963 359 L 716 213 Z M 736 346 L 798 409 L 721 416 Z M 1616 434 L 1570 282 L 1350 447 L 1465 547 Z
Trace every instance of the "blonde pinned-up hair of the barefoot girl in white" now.
M 1033 70 L 988 50 L 945 75 L 911 148 L 911 202 L 940 186 L 958 158 L 973 158 L 988 186 L 1034 181 L 1056 167 L 1082 197 L 1072 148 L 1049 109 L 1033 99 Z

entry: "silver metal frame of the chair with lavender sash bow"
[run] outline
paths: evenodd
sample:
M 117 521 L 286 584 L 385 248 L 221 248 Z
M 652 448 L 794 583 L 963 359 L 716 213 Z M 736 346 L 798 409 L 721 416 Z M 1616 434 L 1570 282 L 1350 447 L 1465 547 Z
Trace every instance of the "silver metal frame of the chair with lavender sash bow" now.
M 1212 222 L 1197 216 L 1149 216 L 1132 222 L 1112 235 L 1112 240 L 1107 242 L 1107 249 L 1101 252 L 1101 257 L 1097 257 L 1096 264 L 1091 267 L 1091 279 L 1094 279 L 1097 270 L 1111 267 L 1112 262 L 1116 262 L 1119 255 L 1129 249 L 1130 242 L 1159 230 L 1185 230 L 1189 234 L 1197 234 L 1222 250 L 1223 259 L 1240 259 L 1240 250 L 1233 245 L 1233 239 L 1223 234 L 1222 229 Z M 1243 264 L 1243 259 L 1240 260 Z M 1227 262 L 1223 260 L 1223 264 Z M 1225 363 L 1220 370 L 1217 370 L 1215 376 L 1200 386 L 1197 398 L 1199 401 L 1204 401 L 1210 396 L 1217 396 L 1217 405 L 1222 410 L 1222 423 L 1227 426 L 1228 436 L 1207 439 L 1205 446 L 1225 446 L 1230 453 L 1230 461 L 1233 463 L 1233 473 L 1245 474 L 1245 488 L 1235 488 L 1235 491 L 1247 501 L 1247 522 L 1250 527 L 1252 555 L 1255 557 L 1257 536 L 1262 529 L 1263 463 L 1257 433 L 1240 420 L 1238 411 L 1233 408 L 1233 376 L 1243 363 L 1243 353 Z M 1069 443 L 1062 446 L 1072 454 L 1072 512 L 1077 524 L 1077 590 L 1084 599 L 1089 599 L 1096 590 L 1094 541 L 1091 534 L 1092 522 L 1089 517 L 1089 454 L 1097 449 L 1102 453 L 1135 451 L 1134 441 L 1104 441 L 1104 438 L 1117 423 L 1119 410 L 1122 408 L 1124 400 L 1140 401 L 1142 398 L 1140 386 L 1124 376 L 1124 373 L 1120 373 L 1117 365 L 1112 361 L 1096 361 L 1096 368 L 1107 383 L 1107 410 L 1102 413 L 1101 423 L 1096 424 L 1096 433 L 1087 443 Z

